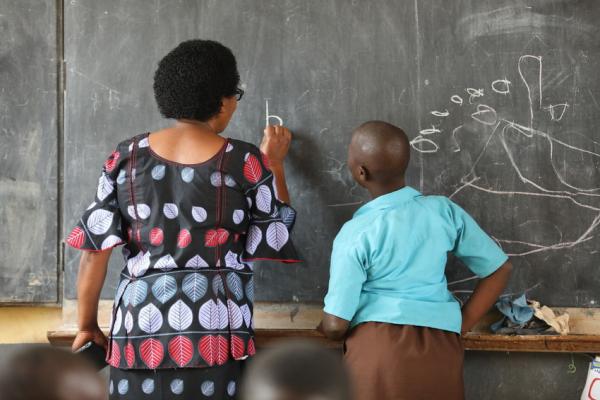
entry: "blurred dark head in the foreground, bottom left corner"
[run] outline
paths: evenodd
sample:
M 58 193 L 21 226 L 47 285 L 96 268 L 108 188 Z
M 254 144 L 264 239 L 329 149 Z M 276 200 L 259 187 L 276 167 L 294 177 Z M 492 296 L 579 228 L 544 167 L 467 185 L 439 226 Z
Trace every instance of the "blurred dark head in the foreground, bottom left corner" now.
M 17 351 L 0 367 L 2 400 L 103 400 L 105 387 L 81 356 L 56 348 Z

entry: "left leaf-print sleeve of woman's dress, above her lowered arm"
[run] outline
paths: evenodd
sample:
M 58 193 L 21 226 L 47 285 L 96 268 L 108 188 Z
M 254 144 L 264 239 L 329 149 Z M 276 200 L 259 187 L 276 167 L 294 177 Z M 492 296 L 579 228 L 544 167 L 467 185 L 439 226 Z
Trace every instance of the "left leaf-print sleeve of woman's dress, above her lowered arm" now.
M 94 201 L 67 236 L 68 245 L 80 250 L 102 251 L 125 243 L 117 201 L 117 181 L 126 176 L 122 153 L 117 148 L 104 162 Z

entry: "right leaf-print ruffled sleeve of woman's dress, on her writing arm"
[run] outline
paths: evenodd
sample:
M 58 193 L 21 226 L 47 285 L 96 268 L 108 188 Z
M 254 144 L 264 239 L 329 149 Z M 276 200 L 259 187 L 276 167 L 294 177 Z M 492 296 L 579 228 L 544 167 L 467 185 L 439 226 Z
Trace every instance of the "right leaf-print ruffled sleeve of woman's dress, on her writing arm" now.
M 254 146 L 244 156 L 243 173 L 250 215 L 243 261 L 299 262 L 290 237 L 296 211 L 277 199 L 268 160 Z

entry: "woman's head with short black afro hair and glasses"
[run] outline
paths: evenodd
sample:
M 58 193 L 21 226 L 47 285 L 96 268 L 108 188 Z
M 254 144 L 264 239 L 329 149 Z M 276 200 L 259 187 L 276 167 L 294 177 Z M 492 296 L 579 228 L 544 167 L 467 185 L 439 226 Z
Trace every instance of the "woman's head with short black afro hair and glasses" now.
M 158 63 L 154 97 L 165 118 L 227 127 L 237 107 L 240 74 L 231 50 L 212 40 L 182 42 Z

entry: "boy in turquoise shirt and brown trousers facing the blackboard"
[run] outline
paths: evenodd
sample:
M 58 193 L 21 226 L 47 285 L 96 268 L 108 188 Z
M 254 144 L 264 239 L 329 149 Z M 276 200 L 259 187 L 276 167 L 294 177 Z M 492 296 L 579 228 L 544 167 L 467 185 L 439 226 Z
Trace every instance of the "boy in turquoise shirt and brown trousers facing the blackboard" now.
M 348 167 L 373 200 L 335 239 L 319 330 L 341 339 L 351 328 L 344 359 L 358 399 L 463 399 L 459 335 L 494 304 L 512 266 L 459 206 L 405 185 L 409 159 L 400 128 L 355 130 Z M 444 275 L 448 252 L 482 278 L 462 313 Z

